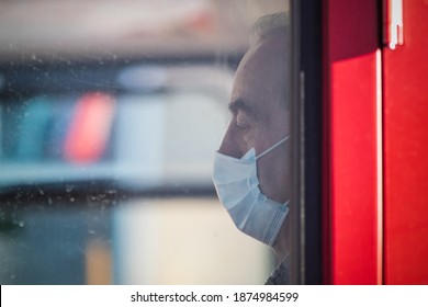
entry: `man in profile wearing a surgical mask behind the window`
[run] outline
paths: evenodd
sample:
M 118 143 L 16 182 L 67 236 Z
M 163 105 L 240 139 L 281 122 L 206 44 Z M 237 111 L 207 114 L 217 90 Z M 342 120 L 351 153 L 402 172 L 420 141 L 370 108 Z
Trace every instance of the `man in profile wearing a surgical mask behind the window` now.
M 237 228 L 271 246 L 280 265 L 267 284 L 288 284 L 291 192 L 290 44 L 286 14 L 262 16 L 236 71 L 232 121 L 215 154 L 217 195 Z

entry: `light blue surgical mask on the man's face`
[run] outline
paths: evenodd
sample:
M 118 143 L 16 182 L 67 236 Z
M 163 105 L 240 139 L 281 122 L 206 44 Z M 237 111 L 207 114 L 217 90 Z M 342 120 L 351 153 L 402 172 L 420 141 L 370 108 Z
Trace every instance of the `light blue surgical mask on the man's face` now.
M 213 181 L 217 195 L 236 227 L 248 236 L 273 246 L 289 213 L 288 202 L 274 202 L 259 189 L 256 161 L 283 144 L 285 137 L 256 156 L 251 148 L 243 158 L 215 152 Z

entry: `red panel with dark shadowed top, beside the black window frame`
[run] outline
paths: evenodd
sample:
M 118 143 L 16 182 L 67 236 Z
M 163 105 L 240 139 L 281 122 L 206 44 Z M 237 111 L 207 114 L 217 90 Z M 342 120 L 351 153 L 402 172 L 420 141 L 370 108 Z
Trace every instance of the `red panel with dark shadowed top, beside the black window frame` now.
M 325 3 L 326 282 L 375 284 L 376 1 Z

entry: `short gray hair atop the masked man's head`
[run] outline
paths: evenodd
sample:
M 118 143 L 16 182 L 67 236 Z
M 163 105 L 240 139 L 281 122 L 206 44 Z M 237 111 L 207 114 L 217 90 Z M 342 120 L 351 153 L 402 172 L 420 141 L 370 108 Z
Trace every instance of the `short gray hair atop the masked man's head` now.
M 286 36 L 289 15 L 278 12 L 261 16 L 252 26 L 251 43 L 270 36 Z

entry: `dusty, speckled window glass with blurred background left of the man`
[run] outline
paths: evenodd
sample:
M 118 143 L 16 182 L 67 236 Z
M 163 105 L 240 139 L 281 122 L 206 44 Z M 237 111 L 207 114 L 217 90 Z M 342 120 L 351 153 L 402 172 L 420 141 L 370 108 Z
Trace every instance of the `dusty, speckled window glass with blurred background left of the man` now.
M 2 2 L 0 283 L 263 284 L 279 262 L 212 171 L 251 26 L 278 11 Z

